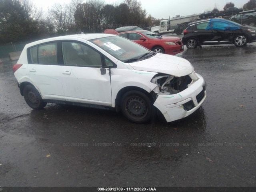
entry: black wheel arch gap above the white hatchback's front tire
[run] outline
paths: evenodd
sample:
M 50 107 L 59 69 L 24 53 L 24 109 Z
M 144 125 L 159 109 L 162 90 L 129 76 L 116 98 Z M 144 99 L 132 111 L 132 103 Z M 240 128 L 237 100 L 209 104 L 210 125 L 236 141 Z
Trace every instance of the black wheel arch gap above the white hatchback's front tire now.
M 116 99 L 115 99 L 115 107 L 116 107 L 116 111 L 120 111 L 121 108 L 120 108 L 120 102 L 121 102 L 121 98 L 122 96 L 128 92 L 128 91 L 140 91 L 142 93 L 144 93 L 146 96 L 148 96 L 148 98 L 150 98 L 150 100 L 153 102 L 154 99 L 153 97 L 150 95 L 149 92 L 147 92 L 146 90 L 144 90 L 143 88 L 140 88 L 140 87 L 136 87 L 136 86 L 127 86 L 127 87 L 124 87 L 122 89 L 120 89 L 116 95 Z

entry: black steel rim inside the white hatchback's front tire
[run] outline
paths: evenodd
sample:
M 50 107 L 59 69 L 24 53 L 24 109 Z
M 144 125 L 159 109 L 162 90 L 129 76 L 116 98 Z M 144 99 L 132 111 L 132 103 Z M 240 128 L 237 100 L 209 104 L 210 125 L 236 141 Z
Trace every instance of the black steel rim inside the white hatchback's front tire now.
M 148 113 L 146 102 L 138 96 L 128 98 L 126 110 L 133 118 L 144 118 Z

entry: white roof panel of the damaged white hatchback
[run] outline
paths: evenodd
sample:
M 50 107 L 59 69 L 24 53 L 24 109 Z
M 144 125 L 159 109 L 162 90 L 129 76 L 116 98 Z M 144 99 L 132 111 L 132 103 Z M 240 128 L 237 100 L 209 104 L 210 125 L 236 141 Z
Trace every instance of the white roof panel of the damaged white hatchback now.
M 65 36 L 58 36 L 58 37 L 52 37 L 52 38 L 47 38 L 47 39 L 42 39 L 38 40 L 32 43 L 27 44 L 26 46 L 34 46 L 37 44 L 45 43 L 45 42 L 50 42 L 50 41 L 58 41 L 58 40 L 79 40 L 84 39 L 84 40 L 92 40 L 96 38 L 103 38 L 103 37 L 109 37 L 109 36 L 115 36 L 113 34 L 104 34 L 104 33 L 90 33 L 90 34 L 74 34 L 74 35 L 65 35 Z

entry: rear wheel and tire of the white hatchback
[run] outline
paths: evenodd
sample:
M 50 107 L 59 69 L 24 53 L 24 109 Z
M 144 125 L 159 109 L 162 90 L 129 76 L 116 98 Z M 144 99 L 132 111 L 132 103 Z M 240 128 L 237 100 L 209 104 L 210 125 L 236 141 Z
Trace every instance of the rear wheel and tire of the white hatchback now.
M 42 109 L 46 106 L 38 90 L 32 85 L 26 85 L 23 90 L 23 95 L 26 103 L 32 109 Z

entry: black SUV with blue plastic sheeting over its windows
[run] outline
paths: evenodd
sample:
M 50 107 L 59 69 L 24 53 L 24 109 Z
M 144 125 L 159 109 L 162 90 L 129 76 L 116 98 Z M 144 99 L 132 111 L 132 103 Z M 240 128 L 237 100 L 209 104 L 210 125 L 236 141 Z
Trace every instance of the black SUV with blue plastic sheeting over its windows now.
M 256 42 L 255 29 L 219 18 L 192 22 L 183 33 L 182 42 L 188 49 L 212 44 L 235 44 L 242 47 Z

